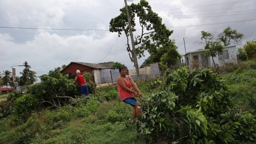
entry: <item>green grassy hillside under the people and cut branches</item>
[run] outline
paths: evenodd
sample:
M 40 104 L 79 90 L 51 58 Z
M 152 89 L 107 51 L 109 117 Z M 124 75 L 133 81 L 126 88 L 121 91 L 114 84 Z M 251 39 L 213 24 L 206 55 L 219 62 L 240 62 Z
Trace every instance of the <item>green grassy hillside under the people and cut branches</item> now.
M 222 67 L 221 77 L 226 81 L 234 108 L 256 109 L 256 62 Z M 137 82 L 145 99 L 159 91 L 161 80 Z M 8 99 L 8 101 L 12 101 Z M 61 108 L 34 109 L 24 118 L 13 116 L 13 109 L 0 107 L 1 143 L 149 143 L 147 136 L 138 133 L 138 123 L 131 122 L 131 107 L 121 102 L 116 86 L 104 86 L 88 97 L 77 96 Z M 147 102 L 142 101 L 142 108 Z M 144 106 L 144 107 L 143 107 Z M 8 116 L 3 116 L 8 113 Z M 254 127 L 256 128 L 256 127 Z M 256 131 L 256 130 L 254 130 Z M 255 140 L 255 137 L 253 138 Z M 154 140 L 153 140 L 154 141 Z M 159 136 L 157 143 L 168 143 Z M 153 142 L 152 142 L 153 143 Z M 155 142 L 154 142 L 155 143 Z M 253 140 L 235 143 L 253 143 Z

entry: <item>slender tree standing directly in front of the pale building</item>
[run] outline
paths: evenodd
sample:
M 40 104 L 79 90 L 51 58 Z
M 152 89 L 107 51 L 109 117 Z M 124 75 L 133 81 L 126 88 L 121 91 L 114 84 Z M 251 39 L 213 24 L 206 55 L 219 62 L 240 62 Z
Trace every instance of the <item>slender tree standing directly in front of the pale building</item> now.
M 216 63 L 214 62 L 214 57 L 216 57 L 218 52 L 222 52 L 223 46 L 221 45 L 221 42 L 218 40 L 214 40 L 214 36 L 212 33 L 209 33 L 207 31 L 201 31 L 201 40 L 204 42 L 204 49 L 205 55 L 207 57 L 212 57 L 212 62 L 214 64 L 214 67 L 216 67 Z

